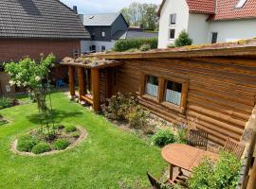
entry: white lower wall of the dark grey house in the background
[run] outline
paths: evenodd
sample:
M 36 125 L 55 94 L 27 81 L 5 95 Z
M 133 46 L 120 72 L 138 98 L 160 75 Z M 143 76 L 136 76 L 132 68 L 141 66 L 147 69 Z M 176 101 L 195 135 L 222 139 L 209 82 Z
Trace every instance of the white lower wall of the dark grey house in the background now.
M 104 45 L 106 50 L 110 50 L 114 47 L 116 41 L 112 42 L 100 42 L 100 41 L 81 41 L 81 52 L 90 52 L 90 46 L 96 45 L 96 52 L 101 52 L 101 46 Z

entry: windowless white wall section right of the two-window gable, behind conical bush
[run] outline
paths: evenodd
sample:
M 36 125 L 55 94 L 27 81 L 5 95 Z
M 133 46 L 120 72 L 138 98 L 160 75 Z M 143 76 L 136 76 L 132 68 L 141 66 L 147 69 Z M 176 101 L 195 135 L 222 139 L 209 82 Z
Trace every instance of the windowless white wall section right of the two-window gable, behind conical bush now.
M 209 15 L 190 13 L 188 33 L 193 44 L 209 43 Z

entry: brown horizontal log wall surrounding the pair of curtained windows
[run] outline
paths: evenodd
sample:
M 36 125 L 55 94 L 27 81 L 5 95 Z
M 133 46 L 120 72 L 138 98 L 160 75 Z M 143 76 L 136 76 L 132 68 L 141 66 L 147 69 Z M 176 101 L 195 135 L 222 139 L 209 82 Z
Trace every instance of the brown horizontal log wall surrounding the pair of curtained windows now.
M 118 91 L 138 94 L 141 71 L 161 77 L 189 79 L 187 110 L 175 112 L 148 99 L 140 103 L 175 124 L 196 124 L 210 139 L 224 144 L 240 141 L 255 105 L 256 60 L 242 58 L 191 58 L 122 60 Z M 197 121 L 196 121 L 197 120 Z

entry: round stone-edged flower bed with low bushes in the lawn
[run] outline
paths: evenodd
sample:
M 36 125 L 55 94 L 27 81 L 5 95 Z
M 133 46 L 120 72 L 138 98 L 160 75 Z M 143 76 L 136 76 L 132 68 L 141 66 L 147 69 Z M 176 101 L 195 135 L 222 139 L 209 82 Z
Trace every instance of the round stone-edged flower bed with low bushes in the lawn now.
M 85 130 L 74 126 L 33 129 L 16 139 L 11 149 L 20 155 L 48 155 L 77 146 L 85 137 Z

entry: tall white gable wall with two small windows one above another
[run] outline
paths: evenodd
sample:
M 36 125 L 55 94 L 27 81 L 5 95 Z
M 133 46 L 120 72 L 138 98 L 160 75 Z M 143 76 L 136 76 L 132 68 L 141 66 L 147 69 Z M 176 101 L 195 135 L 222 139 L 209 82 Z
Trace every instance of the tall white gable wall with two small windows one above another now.
M 176 25 L 170 26 L 170 14 L 176 13 Z M 168 44 L 174 43 L 179 33 L 188 30 L 189 7 L 186 0 L 166 0 L 159 20 L 158 48 L 166 48 Z M 175 39 L 169 39 L 170 28 L 175 29 Z

